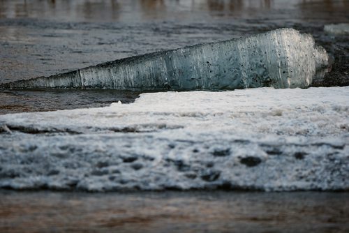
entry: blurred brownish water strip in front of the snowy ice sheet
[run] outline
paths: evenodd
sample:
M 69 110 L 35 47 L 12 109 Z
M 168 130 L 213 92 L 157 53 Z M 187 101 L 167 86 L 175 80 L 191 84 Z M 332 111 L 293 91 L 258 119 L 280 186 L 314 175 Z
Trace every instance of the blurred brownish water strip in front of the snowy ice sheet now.
M 0 192 L 1 232 L 348 232 L 348 193 Z

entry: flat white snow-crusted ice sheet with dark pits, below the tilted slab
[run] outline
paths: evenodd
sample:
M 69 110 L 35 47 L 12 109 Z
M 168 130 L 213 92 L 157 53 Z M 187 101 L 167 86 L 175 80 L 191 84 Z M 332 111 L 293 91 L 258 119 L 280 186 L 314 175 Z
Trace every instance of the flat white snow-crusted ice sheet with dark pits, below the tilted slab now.
M 349 87 L 0 116 L 0 188 L 349 190 Z

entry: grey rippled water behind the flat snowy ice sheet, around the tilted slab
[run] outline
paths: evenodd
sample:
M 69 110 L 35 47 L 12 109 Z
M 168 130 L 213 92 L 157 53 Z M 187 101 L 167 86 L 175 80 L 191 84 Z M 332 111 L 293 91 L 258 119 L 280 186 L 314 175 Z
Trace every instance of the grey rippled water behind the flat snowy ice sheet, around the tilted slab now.
M 327 35 L 323 27 L 349 22 L 348 10 L 346 0 L 0 1 L 0 82 L 292 27 L 311 33 L 333 61 L 331 72 L 313 80 L 313 87 L 346 86 L 348 36 Z M 1 91 L 0 113 L 100 107 L 137 96 L 103 90 Z

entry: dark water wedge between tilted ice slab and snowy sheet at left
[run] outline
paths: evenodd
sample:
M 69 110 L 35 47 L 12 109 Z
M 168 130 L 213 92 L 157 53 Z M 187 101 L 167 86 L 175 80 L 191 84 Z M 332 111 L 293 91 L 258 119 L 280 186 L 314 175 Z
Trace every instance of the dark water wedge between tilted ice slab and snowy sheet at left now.
M 133 103 L 138 91 L 34 89 L 0 91 L 0 114 L 105 107 Z

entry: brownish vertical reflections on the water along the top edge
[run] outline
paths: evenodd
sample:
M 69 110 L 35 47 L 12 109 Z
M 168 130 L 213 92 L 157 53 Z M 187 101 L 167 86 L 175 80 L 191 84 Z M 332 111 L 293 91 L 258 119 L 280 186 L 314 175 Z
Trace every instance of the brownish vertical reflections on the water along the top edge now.
M 0 0 L 0 18 L 47 17 L 50 20 L 142 20 L 181 19 L 181 12 L 207 11 L 244 15 L 254 14 L 254 10 L 273 10 L 279 8 L 307 9 L 321 6 L 321 10 L 343 10 L 349 5 L 348 0 Z

